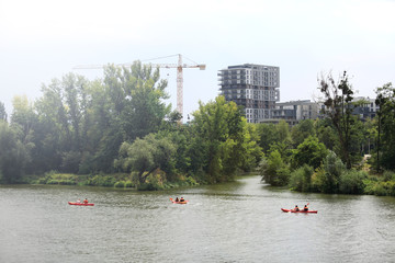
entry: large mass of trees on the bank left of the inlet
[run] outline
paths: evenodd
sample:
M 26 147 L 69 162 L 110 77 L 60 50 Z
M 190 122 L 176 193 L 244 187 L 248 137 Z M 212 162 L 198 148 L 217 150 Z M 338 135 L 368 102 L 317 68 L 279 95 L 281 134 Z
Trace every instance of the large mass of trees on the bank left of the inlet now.
M 166 181 L 216 183 L 257 165 L 255 127 L 235 103 L 222 96 L 201 103 L 193 121 L 181 125 L 165 102 L 166 87 L 159 69 L 136 61 L 108 66 L 102 80 L 74 73 L 54 79 L 34 103 L 15 96 L 10 122 L 1 103 L 0 179 L 126 172 L 137 185 L 163 173 Z

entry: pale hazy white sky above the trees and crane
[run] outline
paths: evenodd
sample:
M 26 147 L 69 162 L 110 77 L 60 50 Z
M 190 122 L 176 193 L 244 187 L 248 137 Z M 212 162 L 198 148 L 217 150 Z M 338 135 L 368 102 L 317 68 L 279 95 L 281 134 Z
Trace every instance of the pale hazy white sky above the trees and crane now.
M 312 99 L 321 72 L 343 70 L 373 98 L 395 83 L 394 13 L 394 0 L 0 0 L 0 101 L 11 114 L 14 95 L 33 102 L 77 65 L 176 54 L 206 64 L 184 69 L 185 114 L 218 94 L 219 69 L 247 62 L 280 67 L 281 101 Z M 176 108 L 176 69 L 161 77 Z

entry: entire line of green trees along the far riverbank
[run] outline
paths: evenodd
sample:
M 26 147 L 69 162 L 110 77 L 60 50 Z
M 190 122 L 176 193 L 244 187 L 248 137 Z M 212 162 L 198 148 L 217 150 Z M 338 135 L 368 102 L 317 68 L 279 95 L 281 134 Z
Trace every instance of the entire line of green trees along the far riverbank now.
M 326 117 L 292 128 L 285 122 L 249 124 L 242 108 L 223 96 L 200 102 L 192 121 L 181 124 L 182 116 L 166 104 L 159 69 L 139 61 L 109 65 L 93 81 L 68 73 L 43 84 L 35 102 L 15 96 L 10 119 L 0 103 L 0 179 L 15 183 L 56 171 L 92 181 L 125 173 L 140 188 L 158 188 L 180 180 L 225 182 L 259 168 L 272 185 L 335 193 L 345 184 L 329 170 L 340 165 L 340 174 L 357 171 L 365 179 L 358 164 L 368 149 L 374 149 L 372 168 L 394 170 L 392 84 L 376 89 L 380 111 L 368 121 L 352 115 L 347 73 L 339 81 L 323 77 L 318 85 Z

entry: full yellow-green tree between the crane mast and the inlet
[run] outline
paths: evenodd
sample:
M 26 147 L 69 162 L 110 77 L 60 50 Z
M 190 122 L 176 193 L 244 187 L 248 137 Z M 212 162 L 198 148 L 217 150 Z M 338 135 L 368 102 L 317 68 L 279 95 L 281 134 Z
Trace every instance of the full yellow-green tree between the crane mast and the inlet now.
M 203 104 L 193 113 L 194 161 L 196 158 L 211 183 L 233 179 L 240 168 L 240 157 L 247 155 L 245 136 L 246 119 L 240 108 L 234 102 L 226 102 L 224 96 L 217 96 L 214 102 Z M 200 152 L 196 152 L 196 151 Z M 195 170 L 199 168 L 194 168 Z

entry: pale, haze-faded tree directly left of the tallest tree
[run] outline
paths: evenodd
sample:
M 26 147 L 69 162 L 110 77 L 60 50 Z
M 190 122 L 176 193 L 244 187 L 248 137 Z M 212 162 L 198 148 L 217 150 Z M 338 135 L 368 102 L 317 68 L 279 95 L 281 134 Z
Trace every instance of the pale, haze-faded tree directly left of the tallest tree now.
M 83 77 L 74 73 L 43 84 L 43 96 L 35 103 L 36 149 L 33 156 L 38 171 L 40 168 L 79 171 L 89 127 L 86 122 L 89 95 L 84 89 L 88 84 Z

